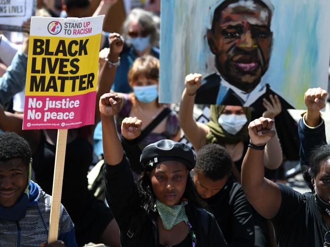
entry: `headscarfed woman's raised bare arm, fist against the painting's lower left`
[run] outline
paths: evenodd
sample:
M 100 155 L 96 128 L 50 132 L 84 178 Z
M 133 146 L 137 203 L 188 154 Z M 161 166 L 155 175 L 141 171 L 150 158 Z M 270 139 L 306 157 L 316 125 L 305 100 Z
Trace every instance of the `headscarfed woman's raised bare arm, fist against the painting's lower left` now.
M 201 87 L 201 74 L 188 74 L 186 76 L 185 86 L 181 97 L 180 110 L 179 110 L 179 123 L 180 126 L 193 145 L 194 149 L 198 151 L 206 144 L 205 136 L 209 133 L 210 129 L 203 123 L 196 122 L 193 119 L 193 104 L 197 89 Z

